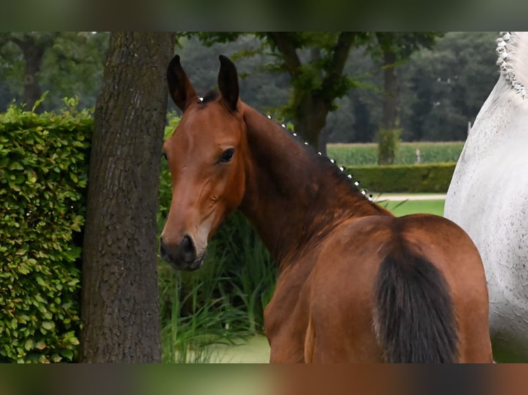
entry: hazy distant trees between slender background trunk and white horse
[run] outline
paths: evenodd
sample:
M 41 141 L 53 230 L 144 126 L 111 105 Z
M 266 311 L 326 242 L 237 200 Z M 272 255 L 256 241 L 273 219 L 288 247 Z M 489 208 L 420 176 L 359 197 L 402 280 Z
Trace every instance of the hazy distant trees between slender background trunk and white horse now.
M 401 67 L 405 140 L 465 140 L 498 78 L 496 32 L 449 32 Z

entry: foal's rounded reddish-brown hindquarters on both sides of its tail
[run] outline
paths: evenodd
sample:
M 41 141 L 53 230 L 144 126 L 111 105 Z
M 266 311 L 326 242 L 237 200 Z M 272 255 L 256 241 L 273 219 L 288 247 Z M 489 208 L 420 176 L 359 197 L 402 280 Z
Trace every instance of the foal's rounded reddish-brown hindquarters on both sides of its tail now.
M 444 343 L 451 341 L 453 350 L 451 354 L 449 350 L 445 352 L 446 361 L 441 359 L 440 352 L 439 361 L 492 361 L 482 262 L 471 239 L 449 220 L 434 215 L 369 216 L 347 220 L 325 239 L 319 253 L 307 254 L 303 260 L 309 261 L 312 257 L 313 264 L 298 264 L 299 268 L 312 266 L 312 270 L 301 286 L 299 306 L 293 309 L 308 312 L 303 344 L 305 362 L 387 361 L 392 352 L 391 337 L 394 341 L 408 342 L 402 345 L 404 348 L 415 348 L 409 351 L 412 361 L 429 362 L 429 356 L 419 355 L 416 350 L 420 348 L 416 343 L 420 339 L 414 339 L 412 331 L 424 332 L 424 325 L 417 327 L 416 323 L 425 322 L 425 332 L 427 325 L 434 325 L 429 321 L 434 321 L 435 311 L 443 308 L 439 303 L 451 303 L 447 306 L 451 313 L 445 314 L 454 315 L 451 332 L 447 331 L 438 345 L 440 349 L 448 349 L 449 344 Z M 447 299 L 437 302 L 433 295 L 432 306 L 424 305 L 425 312 L 421 312 L 419 306 L 409 305 L 406 311 L 398 312 L 398 317 L 392 315 L 396 312 L 379 311 L 383 308 L 378 300 L 383 298 L 380 273 L 383 274 L 387 265 L 395 265 L 396 273 L 403 273 L 407 281 L 404 281 L 407 289 L 396 295 L 396 303 L 404 308 L 406 298 L 416 292 L 413 290 L 416 285 L 418 292 L 422 292 L 420 286 L 437 286 L 438 293 L 444 287 Z M 427 265 L 430 266 L 425 267 Z M 427 276 L 429 279 L 424 279 Z M 420 285 L 420 281 L 425 283 Z M 427 284 L 427 281 L 432 282 Z M 414 295 L 418 302 L 428 297 L 429 291 L 423 292 L 424 295 Z M 432 317 L 420 317 L 420 314 L 432 314 Z M 391 319 L 395 326 L 388 328 L 387 333 Z M 302 326 L 301 323 L 300 330 Z M 434 332 L 437 328 L 429 329 Z M 453 334 L 453 331 L 456 332 Z M 417 336 L 421 336 L 427 346 L 427 334 Z M 384 337 L 389 338 L 389 343 Z M 398 359 L 398 350 L 395 355 Z

